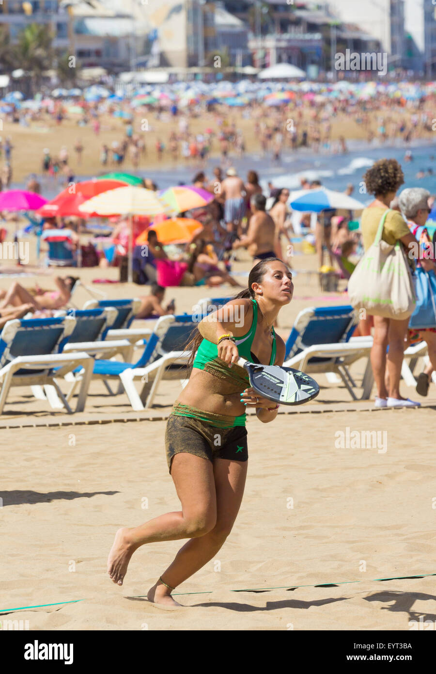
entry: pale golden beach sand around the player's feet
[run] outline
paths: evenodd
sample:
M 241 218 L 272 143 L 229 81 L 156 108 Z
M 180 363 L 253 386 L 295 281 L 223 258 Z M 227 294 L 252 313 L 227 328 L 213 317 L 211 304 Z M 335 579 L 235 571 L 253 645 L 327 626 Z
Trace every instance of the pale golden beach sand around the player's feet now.
M 321 295 L 316 275 L 303 273 L 313 272 L 314 256 L 292 264 L 300 273 L 280 314 L 284 338 L 303 307 L 348 303 L 340 293 Z M 235 268 L 243 274 L 249 264 Z M 80 275 L 90 283 L 117 273 Z M 53 286 L 49 276 L 37 279 Z M 8 282 L 1 278 L 0 287 Z M 95 287 L 109 297 L 148 293 L 128 284 Z M 175 297 L 177 310 L 189 311 L 200 297 L 227 293 L 168 288 L 166 301 Z M 77 305 L 86 299 L 80 289 Z M 353 366 L 357 381 L 364 369 L 363 360 Z M 402 382 L 421 409 L 373 410 L 372 400 L 352 402 L 342 384 L 317 378 L 313 402 L 282 407 L 269 425 L 249 417 L 249 470 L 235 526 L 216 557 L 177 588 L 187 608 L 170 612 L 144 595 L 183 541 L 139 549 L 121 588 L 106 575 L 106 558 L 120 526 L 180 509 L 164 454 L 179 381 L 164 381 L 156 406 L 144 412 L 132 412 L 124 394 L 110 398 L 99 383 L 77 415 L 13 389 L 0 419 L 0 613 L 37 608 L 3 617 L 28 620 L 29 630 L 405 631 L 421 615 L 434 621 L 434 579 L 404 578 L 436 574 L 434 387 L 419 398 Z M 347 427 L 361 439 L 361 431 L 379 431 L 383 443 L 341 448 Z M 326 584 L 333 586 L 319 587 Z M 256 589 L 266 591 L 233 591 Z M 73 600 L 83 601 L 66 603 Z

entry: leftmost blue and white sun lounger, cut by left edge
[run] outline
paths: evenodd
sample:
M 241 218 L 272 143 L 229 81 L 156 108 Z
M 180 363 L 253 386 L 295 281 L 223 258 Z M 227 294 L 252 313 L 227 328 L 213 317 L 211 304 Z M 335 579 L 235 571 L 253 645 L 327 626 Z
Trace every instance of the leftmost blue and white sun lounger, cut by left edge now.
M 43 386 L 49 402 L 55 400 L 55 404 L 59 404 L 61 398 L 63 406 L 71 414 L 73 410 L 55 377 L 62 377 L 77 367 L 82 369 L 83 376 L 75 411 L 82 412 L 94 359 L 83 351 L 63 353 L 74 328 L 75 319 L 71 316 L 7 322 L 0 335 L 0 414 L 11 386 L 31 386 L 37 398 Z

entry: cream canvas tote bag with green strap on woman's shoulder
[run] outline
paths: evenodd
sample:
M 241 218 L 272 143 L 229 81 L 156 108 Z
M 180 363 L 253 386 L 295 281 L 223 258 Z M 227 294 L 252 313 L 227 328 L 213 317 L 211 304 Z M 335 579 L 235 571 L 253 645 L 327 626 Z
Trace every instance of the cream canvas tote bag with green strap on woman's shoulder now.
M 400 321 L 414 311 L 416 298 L 412 273 L 400 241 L 381 240 L 388 208 L 381 216 L 374 243 L 363 255 L 348 281 L 348 296 L 354 309 Z

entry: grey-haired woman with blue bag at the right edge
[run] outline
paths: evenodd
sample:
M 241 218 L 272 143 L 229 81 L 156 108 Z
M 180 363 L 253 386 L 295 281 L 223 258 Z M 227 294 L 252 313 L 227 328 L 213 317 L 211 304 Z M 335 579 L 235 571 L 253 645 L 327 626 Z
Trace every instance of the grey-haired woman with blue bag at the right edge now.
M 423 262 L 425 262 L 425 260 L 420 259 L 416 264 L 418 282 L 424 284 L 423 290 L 427 291 L 427 293 L 417 293 L 416 310 L 410 317 L 408 330 L 408 344 L 414 344 L 424 340 L 429 347 L 430 363 L 425 370 L 421 372 L 416 384 L 416 392 L 418 392 L 420 396 L 427 396 L 431 373 L 433 370 L 436 370 L 436 265 L 434 262 L 435 254 L 433 245 L 429 233 L 424 226 L 429 218 L 429 197 L 430 192 L 427 189 L 423 189 L 422 187 L 411 187 L 410 189 L 403 189 L 399 200 L 401 212 L 407 220 L 408 227 L 414 237 L 419 240 L 420 250 L 422 251 L 421 254 L 423 254 L 423 249 L 427 248 L 429 257 L 427 263 L 431 262 L 430 271 L 425 271 L 423 269 Z

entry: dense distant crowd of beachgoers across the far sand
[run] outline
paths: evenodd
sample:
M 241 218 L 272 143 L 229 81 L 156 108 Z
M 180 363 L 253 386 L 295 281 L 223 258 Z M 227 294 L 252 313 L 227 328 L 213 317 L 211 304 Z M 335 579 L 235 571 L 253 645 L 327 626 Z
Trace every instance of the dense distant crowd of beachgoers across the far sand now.
M 433 131 L 434 92 L 415 98 L 393 98 L 383 90 L 377 90 L 377 96 L 363 98 L 356 98 L 351 92 L 336 93 L 338 96 L 332 98 L 325 93 L 295 91 L 287 100 L 240 100 L 237 107 L 218 99 L 211 102 L 204 96 L 193 98 L 187 106 L 181 106 L 174 98 L 148 104 L 127 96 L 117 101 L 76 96 L 67 101 L 46 99 L 39 108 L 10 102 L 2 119 L 28 127 L 61 129 L 64 125 L 71 127 L 71 123 L 77 127 L 77 133 L 71 133 L 71 146 L 44 148 L 40 166 L 33 167 L 33 171 L 40 170 L 44 177 L 62 184 L 71 181 L 90 162 L 96 167 L 98 162 L 102 170 L 145 168 L 150 159 L 157 164 L 191 164 L 200 169 L 206 168 L 210 156 L 219 156 L 223 166 L 230 166 L 248 151 L 248 134 L 251 152 L 280 164 L 285 150 L 307 148 L 318 153 L 344 154 L 352 137 L 361 137 L 375 146 L 408 144 Z M 346 123 L 346 130 L 338 134 L 334 125 L 342 122 Z M 82 129 L 91 129 L 96 138 L 102 139 L 98 158 L 84 141 Z M 114 133 L 119 137 L 114 138 Z M 8 133 L 0 137 L 2 189 L 11 185 L 12 151 Z

